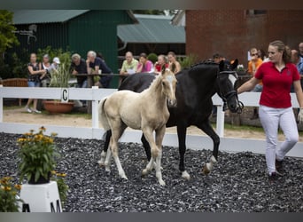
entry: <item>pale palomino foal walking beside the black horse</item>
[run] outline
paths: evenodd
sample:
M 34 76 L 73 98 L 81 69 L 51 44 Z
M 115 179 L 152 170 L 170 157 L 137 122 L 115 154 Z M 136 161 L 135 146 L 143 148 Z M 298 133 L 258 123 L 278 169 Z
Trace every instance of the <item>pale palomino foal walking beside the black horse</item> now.
M 105 131 L 112 130 L 110 149 L 101 154 L 98 162 L 110 170 L 111 153 L 121 178 L 127 178 L 118 156 L 118 140 L 127 127 L 142 130 L 151 146 L 151 160 L 142 171 L 146 175 L 154 167 L 159 184 L 164 186 L 161 173 L 162 140 L 169 117 L 167 105 L 176 106 L 175 74 L 169 69 L 162 71 L 151 83 L 151 86 L 137 93 L 134 91 L 116 91 L 99 103 L 100 121 Z M 156 139 L 153 138 L 156 132 Z M 106 157 L 105 157 L 106 156 Z

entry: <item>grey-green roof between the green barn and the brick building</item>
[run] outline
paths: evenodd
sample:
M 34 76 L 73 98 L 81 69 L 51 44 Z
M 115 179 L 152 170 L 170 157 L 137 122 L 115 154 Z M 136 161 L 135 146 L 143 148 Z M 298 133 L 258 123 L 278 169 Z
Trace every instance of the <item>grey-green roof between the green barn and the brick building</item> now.
M 172 25 L 172 16 L 135 14 L 135 18 L 138 24 L 118 26 L 122 42 L 185 44 L 185 29 Z

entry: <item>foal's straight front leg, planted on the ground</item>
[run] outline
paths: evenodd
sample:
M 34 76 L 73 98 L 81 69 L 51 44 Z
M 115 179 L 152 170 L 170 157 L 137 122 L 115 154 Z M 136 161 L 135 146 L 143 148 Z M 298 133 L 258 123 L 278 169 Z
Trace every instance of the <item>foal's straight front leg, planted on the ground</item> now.
M 162 172 L 161 172 L 161 158 L 162 158 L 162 141 L 165 134 L 166 126 L 163 125 L 160 129 L 156 131 L 156 145 L 159 148 L 159 155 L 156 157 L 156 178 L 158 178 L 159 184 L 161 186 L 165 185 L 165 182 L 162 179 Z

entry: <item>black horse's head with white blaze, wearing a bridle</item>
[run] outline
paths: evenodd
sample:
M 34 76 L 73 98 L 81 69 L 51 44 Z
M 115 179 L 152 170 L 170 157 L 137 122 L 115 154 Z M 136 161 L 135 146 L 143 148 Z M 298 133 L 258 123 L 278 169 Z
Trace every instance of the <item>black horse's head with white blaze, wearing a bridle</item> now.
M 227 103 L 229 110 L 233 113 L 242 113 L 243 103 L 237 99 L 236 82 L 237 72 L 234 69 L 237 67 L 238 60 L 234 63 L 226 64 L 223 60 L 219 64 L 218 84 L 219 96 L 224 101 L 224 107 Z

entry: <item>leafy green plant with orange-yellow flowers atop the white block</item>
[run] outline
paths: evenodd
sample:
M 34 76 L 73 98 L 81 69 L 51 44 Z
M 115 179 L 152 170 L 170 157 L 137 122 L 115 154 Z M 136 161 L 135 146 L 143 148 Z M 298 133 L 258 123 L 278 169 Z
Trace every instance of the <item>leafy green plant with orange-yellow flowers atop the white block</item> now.
M 57 147 L 54 144 L 56 134 L 51 133 L 51 136 L 46 136 L 43 134 L 44 131 L 46 131 L 44 127 L 36 133 L 31 130 L 18 139 L 20 181 L 24 177 L 27 177 L 28 181 L 35 177 L 35 182 L 40 177 L 47 179 L 49 173 L 55 169 L 56 157 L 58 157 Z

